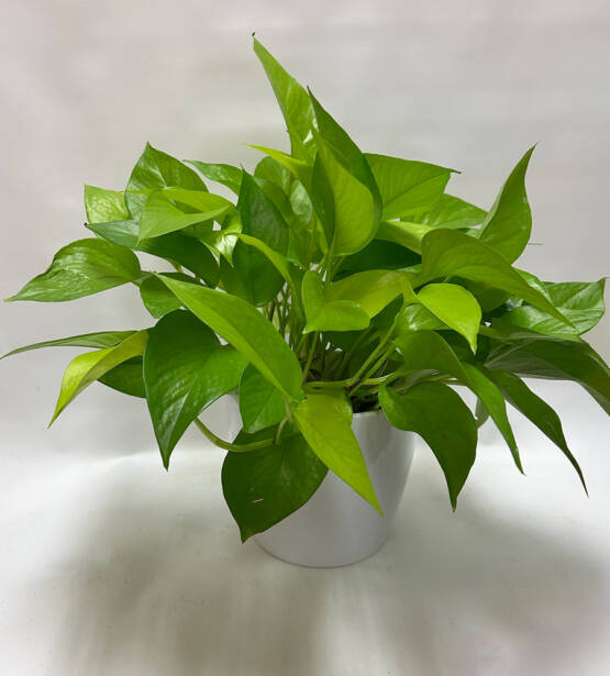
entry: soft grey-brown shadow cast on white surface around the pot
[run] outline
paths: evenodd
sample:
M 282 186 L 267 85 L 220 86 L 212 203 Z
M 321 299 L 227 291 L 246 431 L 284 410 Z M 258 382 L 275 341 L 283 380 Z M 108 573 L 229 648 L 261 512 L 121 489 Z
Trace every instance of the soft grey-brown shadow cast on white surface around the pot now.
M 599 564 L 472 499 L 452 518 L 417 474 L 387 545 L 337 569 L 242 546 L 197 473 L 171 503 L 119 484 L 62 573 L 57 664 L 104 676 L 577 673 L 603 642 Z

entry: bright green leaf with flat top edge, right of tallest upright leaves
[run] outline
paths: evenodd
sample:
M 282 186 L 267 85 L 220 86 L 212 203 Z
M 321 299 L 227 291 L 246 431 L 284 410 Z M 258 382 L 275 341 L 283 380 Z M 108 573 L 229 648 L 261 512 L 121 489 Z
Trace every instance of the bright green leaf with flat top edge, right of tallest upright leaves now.
M 382 218 L 421 213 L 441 198 L 454 169 L 367 153 L 384 204 Z

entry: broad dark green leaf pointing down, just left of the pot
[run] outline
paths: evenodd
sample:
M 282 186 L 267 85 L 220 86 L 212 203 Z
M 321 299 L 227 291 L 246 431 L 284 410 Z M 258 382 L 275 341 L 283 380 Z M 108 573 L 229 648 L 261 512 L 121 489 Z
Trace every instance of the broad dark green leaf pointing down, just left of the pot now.
M 167 468 L 186 429 L 219 397 L 237 388 L 247 362 L 233 347 L 221 345 L 213 331 L 184 310 L 166 314 L 149 333 L 144 385 Z

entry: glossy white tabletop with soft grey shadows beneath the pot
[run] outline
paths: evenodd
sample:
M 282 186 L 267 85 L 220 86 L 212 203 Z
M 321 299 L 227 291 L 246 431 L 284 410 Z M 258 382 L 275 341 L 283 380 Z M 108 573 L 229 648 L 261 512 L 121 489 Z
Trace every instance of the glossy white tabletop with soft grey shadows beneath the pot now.
M 525 477 L 487 423 L 453 514 L 420 443 L 386 546 L 335 569 L 241 545 L 223 453 L 195 433 L 168 474 L 152 446 L 104 455 L 101 429 L 95 452 L 24 433 L 0 475 L 0 673 L 610 673 L 608 419 L 573 385 L 534 387 L 564 417 L 589 499 L 514 414 Z

